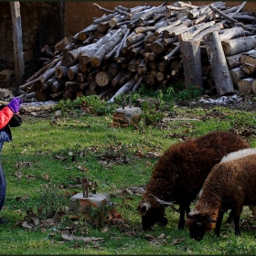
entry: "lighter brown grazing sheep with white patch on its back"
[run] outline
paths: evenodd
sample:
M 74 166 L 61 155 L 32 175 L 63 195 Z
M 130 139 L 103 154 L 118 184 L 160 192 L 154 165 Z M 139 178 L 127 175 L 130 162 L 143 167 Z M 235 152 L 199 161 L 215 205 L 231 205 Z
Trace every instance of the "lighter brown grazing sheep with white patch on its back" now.
M 202 240 L 214 228 L 219 236 L 223 214 L 229 208 L 240 236 L 243 206 L 256 205 L 256 148 L 247 148 L 224 156 L 208 175 L 197 205 L 188 214 L 190 237 Z

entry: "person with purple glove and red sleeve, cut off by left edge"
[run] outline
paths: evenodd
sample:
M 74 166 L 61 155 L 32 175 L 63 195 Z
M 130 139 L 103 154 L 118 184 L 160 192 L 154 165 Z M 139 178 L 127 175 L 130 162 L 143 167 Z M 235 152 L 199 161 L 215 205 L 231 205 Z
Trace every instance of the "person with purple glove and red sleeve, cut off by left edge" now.
M 19 112 L 20 103 L 22 100 L 19 98 L 14 98 L 10 101 L 1 111 L 0 111 L 0 153 L 4 146 L 5 142 L 9 142 L 12 137 L 10 130 L 8 128 L 8 123 L 14 116 L 14 114 Z M 6 181 L 5 173 L 2 168 L 1 159 L 0 159 L 0 212 L 4 207 L 5 203 L 5 192 L 6 192 Z M 0 218 L 0 224 L 6 223 L 6 219 Z

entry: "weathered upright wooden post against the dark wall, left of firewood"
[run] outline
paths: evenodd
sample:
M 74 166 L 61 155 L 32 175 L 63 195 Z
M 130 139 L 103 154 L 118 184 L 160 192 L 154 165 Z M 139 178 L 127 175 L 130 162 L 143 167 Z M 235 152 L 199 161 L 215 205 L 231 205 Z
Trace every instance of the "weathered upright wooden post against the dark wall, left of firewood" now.
M 13 21 L 14 59 L 16 70 L 16 89 L 18 89 L 24 75 L 24 58 L 22 45 L 22 27 L 19 2 L 10 2 Z

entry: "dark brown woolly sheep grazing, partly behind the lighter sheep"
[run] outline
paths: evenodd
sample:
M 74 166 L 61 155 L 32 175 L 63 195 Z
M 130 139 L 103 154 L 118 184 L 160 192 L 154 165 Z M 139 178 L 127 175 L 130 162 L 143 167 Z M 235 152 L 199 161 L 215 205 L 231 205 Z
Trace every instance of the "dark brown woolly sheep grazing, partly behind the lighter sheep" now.
M 185 227 L 185 212 L 214 165 L 224 155 L 250 145 L 237 133 L 211 132 L 170 146 L 159 158 L 138 206 L 143 229 L 157 222 L 166 225 L 165 207 L 179 205 L 178 229 Z

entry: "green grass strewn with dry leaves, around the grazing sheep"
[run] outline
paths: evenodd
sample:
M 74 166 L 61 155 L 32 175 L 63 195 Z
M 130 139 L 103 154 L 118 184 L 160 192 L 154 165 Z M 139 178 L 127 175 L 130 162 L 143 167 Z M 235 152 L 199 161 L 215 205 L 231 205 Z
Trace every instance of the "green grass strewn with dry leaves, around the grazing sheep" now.
M 241 217 L 241 237 L 236 237 L 229 225 L 223 224 L 219 238 L 210 233 L 198 242 L 190 239 L 187 229 L 176 229 L 178 214 L 170 208 L 166 209 L 169 219 L 166 227 L 155 225 L 152 231 L 144 232 L 136 212 L 141 196 L 120 193 L 127 187 L 146 184 L 157 161 L 149 153 L 161 154 L 179 138 L 199 136 L 213 130 L 242 132 L 250 128 L 255 131 L 254 112 L 223 107 L 176 107 L 172 117 L 189 120 L 175 121 L 167 115 L 164 123 L 145 126 L 142 130 L 132 126 L 111 127 L 112 114 L 70 113 L 57 123 L 52 123 L 51 116 L 52 113 L 47 118 L 24 115 L 22 126 L 12 129 L 15 149 L 9 143 L 2 151 L 7 193 L 1 217 L 9 219 L 9 223 L 0 227 L 2 254 L 256 253 L 255 220 L 246 207 Z M 246 139 L 251 146 L 256 146 L 253 133 Z M 59 160 L 57 155 L 66 160 Z M 125 156 L 126 162 L 101 165 L 100 155 L 112 159 L 116 156 L 119 160 Z M 19 169 L 16 167 L 18 161 L 22 164 Z M 81 193 L 77 180 L 84 176 L 97 183 L 98 193 L 111 195 L 112 204 L 124 223 L 93 227 L 83 219 L 72 220 L 64 214 L 51 227 L 42 224 L 47 218 L 40 219 L 38 225 L 31 226 L 32 229 L 22 226 L 21 222 L 28 218 L 29 208 L 34 217 L 38 217 L 37 210 L 42 206 L 48 209 L 69 206 L 60 196 Z M 42 199 L 44 193 L 52 197 L 46 201 Z M 64 232 L 77 238 L 104 240 L 68 241 L 61 236 Z

